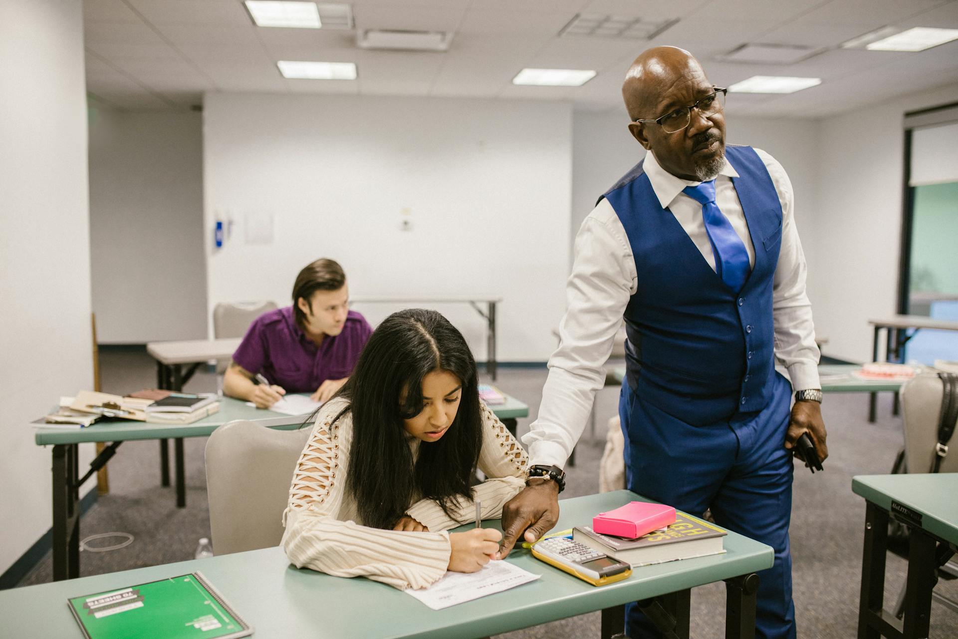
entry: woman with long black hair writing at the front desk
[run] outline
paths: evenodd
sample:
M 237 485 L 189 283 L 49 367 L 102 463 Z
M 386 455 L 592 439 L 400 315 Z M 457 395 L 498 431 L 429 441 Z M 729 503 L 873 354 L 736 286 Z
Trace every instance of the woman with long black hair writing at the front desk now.
M 498 551 L 494 529 L 447 529 L 502 516 L 528 458 L 479 399 L 475 361 L 443 315 L 387 317 L 353 376 L 321 407 L 284 513 L 297 567 L 422 588 L 475 572 Z M 476 468 L 489 478 L 470 487 Z

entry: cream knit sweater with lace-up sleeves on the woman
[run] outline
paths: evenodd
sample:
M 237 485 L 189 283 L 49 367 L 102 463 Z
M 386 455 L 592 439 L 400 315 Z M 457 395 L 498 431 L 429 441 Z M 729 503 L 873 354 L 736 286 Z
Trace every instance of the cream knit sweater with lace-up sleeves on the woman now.
M 481 402 L 480 402 L 481 403 Z M 352 413 L 335 423 L 348 405 L 334 399 L 319 411 L 309 441 L 300 455 L 284 513 L 283 547 L 298 568 L 311 568 L 337 577 L 368 577 L 397 588 L 422 588 L 445 574 L 451 552 L 445 531 L 472 521 L 475 506 L 463 500 L 450 509 L 450 519 L 434 501 L 410 504 L 406 513 L 427 533 L 382 530 L 363 526 L 353 494 L 346 490 Z M 506 427 L 481 403 L 483 445 L 479 469 L 489 478 L 473 487 L 482 502 L 483 519 L 502 516 L 502 507 L 525 486 L 529 458 Z M 413 456 L 421 442 L 410 438 Z

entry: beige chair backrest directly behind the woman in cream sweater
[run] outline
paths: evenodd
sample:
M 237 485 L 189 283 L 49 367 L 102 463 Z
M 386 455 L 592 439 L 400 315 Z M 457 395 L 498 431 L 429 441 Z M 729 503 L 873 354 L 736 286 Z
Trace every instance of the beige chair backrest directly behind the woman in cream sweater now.
M 229 422 L 213 431 L 205 457 L 216 555 L 279 545 L 293 471 L 311 430 Z

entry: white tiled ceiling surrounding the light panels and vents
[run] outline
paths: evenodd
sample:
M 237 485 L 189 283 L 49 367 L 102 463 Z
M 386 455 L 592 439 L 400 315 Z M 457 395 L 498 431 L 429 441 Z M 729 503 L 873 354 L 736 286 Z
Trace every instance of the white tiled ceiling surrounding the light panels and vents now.
M 622 108 L 631 60 L 683 47 L 719 86 L 753 75 L 813 76 L 798 93 L 734 94 L 727 108 L 821 117 L 958 83 L 958 41 L 921 53 L 839 49 L 885 25 L 958 28 L 958 0 L 354 0 L 357 29 L 454 32 L 445 53 L 367 51 L 353 31 L 253 25 L 241 0 L 83 0 L 87 90 L 129 110 L 182 110 L 204 92 L 334 93 L 559 100 Z M 652 40 L 562 37 L 576 13 L 679 18 Z M 820 53 L 789 65 L 718 58 L 745 43 Z M 281 59 L 355 62 L 356 80 L 285 80 Z M 581 87 L 515 86 L 523 67 L 594 69 Z

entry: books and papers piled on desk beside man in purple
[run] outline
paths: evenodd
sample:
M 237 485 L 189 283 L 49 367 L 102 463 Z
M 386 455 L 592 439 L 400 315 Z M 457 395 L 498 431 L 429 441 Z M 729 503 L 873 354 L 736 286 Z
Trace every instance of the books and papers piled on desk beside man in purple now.
M 145 390 L 129 396 L 80 391 L 77 397 L 61 398 L 59 409 L 47 423 L 88 426 L 100 418 L 148 423 L 193 423 L 219 410 L 217 396 Z

